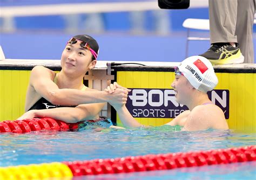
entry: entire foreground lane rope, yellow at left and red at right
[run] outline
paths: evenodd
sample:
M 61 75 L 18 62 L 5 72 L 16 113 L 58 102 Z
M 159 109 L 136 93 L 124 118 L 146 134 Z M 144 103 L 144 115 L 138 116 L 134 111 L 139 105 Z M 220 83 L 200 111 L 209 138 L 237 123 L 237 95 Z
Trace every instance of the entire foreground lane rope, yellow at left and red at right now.
M 99 174 L 118 174 L 152 170 L 170 170 L 203 165 L 256 161 L 256 146 L 213 149 L 207 151 L 149 154 L 116 159 L 0 167 L 0 179 L 42 179 Z

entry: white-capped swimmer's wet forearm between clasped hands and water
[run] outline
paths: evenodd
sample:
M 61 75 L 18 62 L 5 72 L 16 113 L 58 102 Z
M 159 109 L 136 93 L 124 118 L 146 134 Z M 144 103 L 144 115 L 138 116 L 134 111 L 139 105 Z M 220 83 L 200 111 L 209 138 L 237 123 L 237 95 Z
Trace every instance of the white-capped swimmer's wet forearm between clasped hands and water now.
M 136 119 L 132 117 L 125 105 L 115 107 L 120 120 L 125 127 L 140 127 L 143 126 Z

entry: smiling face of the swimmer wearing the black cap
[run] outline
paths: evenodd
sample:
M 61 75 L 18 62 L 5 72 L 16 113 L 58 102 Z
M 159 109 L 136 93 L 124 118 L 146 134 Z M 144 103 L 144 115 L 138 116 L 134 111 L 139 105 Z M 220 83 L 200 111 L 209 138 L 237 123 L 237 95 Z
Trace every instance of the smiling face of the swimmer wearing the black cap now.
M 92 61 L 92 53 L 76 44 L 67 44 L 61 57 L 61 66 L 66 73 L 84 75 L 87 70 L 95 67 L 96 60 Z

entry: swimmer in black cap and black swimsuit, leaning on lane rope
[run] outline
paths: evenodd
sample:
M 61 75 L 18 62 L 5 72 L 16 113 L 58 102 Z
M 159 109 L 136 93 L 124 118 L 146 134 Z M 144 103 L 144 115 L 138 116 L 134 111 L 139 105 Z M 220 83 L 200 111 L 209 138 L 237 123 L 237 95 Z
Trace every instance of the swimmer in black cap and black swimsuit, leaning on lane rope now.
M 43 66 L 34 67 L 26 93 L 25 113 L 18 119 L 49 117 L 77 123 L 97 119 L 106 102 L 125 103 L 126 88 L 110 95 L 83 84 L 85 73 L 96 65 L 98 52 L 98 43 L 90 35 L 76 35 L 65 46 L 59 73 Z

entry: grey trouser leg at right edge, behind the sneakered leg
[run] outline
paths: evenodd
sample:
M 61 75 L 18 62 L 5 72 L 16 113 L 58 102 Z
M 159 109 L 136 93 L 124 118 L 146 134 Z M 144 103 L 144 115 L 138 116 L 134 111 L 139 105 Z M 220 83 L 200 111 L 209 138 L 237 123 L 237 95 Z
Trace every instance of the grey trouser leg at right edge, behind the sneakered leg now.
M 255 12 L 254 0 L 238 0 L 237 26 L 235 34 L 245 63 L 254 63 L 253 20 Z

